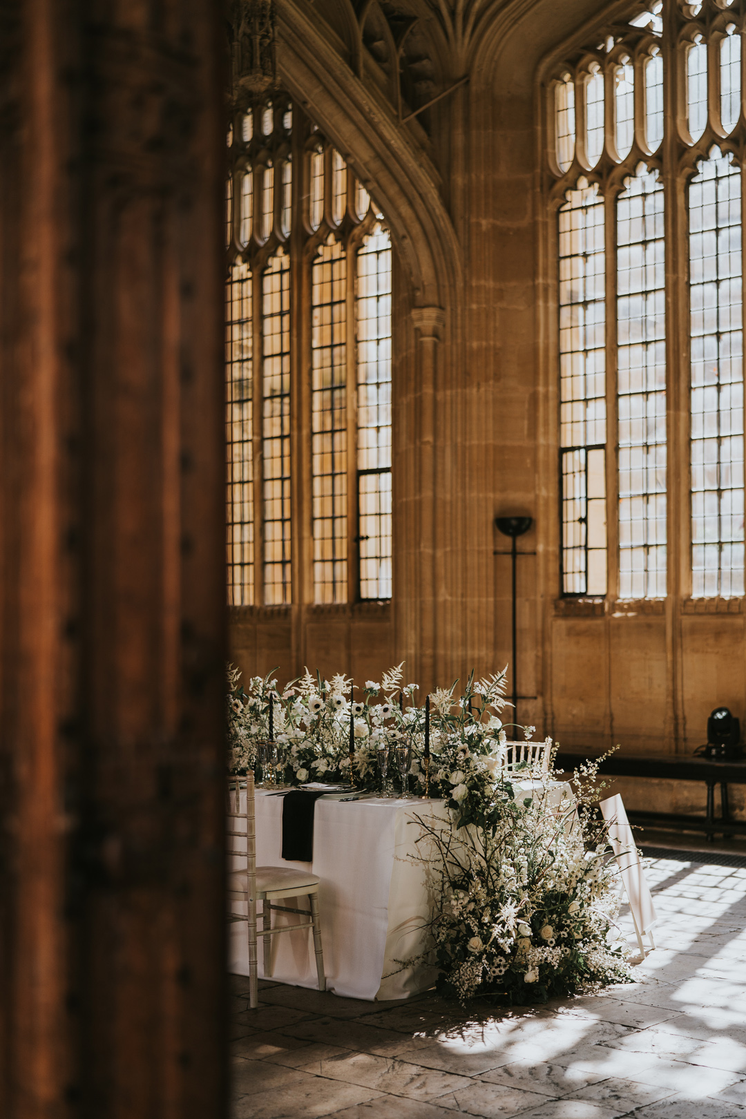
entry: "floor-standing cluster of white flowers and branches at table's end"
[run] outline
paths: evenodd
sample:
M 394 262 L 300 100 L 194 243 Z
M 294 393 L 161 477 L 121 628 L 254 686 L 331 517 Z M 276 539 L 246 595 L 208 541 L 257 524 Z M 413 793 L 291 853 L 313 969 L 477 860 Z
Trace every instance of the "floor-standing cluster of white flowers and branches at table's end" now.
M 512 799 L 491 830 L 419 817 L 445 996 L 529 1004 L 631 980 L 617 865 L 587 787 L 577 794 L 559 811 L 541 794 Z

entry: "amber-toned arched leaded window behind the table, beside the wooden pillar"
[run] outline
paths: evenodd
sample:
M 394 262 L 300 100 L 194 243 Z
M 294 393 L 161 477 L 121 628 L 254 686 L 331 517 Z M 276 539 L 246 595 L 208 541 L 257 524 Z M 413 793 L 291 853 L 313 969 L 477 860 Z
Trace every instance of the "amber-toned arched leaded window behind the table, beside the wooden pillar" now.
M 287 97 L 228 132 L 228 601 L 391 595 L 391 245 Z

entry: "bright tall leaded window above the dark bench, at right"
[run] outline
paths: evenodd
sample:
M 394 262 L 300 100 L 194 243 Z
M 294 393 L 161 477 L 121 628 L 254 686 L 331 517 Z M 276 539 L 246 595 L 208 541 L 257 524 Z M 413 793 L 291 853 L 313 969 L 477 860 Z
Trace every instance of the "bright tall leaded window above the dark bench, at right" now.
M 740 596 L 746 0 L 638 12 L 546 83 L 560 591 Z

